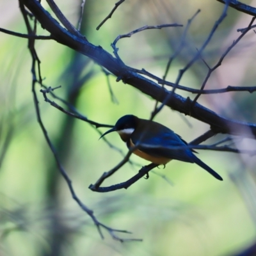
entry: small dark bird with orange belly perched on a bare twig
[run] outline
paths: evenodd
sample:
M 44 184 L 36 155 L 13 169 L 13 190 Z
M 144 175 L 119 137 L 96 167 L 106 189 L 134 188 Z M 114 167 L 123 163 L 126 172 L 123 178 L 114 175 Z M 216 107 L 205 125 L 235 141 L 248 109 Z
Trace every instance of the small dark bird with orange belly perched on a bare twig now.
M 133 154 L 151 163 L 165 166 L 172 159 L 196 163 L 216 179 L 223 180 L 218 173 L 195 156 L 194 153 L 197 152 L 189 148 L 186 141 L 162 124 L 134 115 L 125 115 L 100 138 L 110 132 L 118 132 L 129 149 L 136 146 Z

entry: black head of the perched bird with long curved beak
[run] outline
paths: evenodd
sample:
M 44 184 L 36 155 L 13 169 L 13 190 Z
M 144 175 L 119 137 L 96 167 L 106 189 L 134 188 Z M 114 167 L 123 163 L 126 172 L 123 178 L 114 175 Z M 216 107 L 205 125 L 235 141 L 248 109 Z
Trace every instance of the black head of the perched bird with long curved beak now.
M 139 118 L 134 115 L 125 115 L 119 118 L 113 128 L 106 131 L 100 138 L 110 132 L 118 132 L 123 141 L 127 141 L 129 136 L 134 132 Z

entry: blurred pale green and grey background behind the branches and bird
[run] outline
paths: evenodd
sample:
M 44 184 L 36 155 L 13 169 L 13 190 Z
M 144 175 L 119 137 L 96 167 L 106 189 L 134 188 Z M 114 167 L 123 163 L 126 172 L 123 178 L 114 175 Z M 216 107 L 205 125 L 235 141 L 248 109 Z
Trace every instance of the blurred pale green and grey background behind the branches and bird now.
M 243 2 L 256 5 L 256 1 Z M 201 10 L 186 36 L 186 47 L 172 63 L 169 81 L 175 81 L 179 69 L 200 48 L 223 10 L 223 4 L 214 0 L 131 0 L 119 6 L 112 19 L 97 31 L 115 3 L 116 0 L 87 0 L 84 7 L 84 35 L 109 52 L 113 51 L 111 42 L 120 34 L 145 25 L 186 25 Z M 45 1 L 42 4 L 48 8 Z M 76 26 L 80 1 L 58 0 L 56 4 Z M 0 17 L 1 28 L 26 33 L 18 1 L 1 0 Z M 202 56 L 210 66 L 239 36 L 236 29 L 248 26 L 250 19 L 244 13 L 228 10 Z M 119 54 L 127 65 L 163 77 L 168 57 L 179 47 L 183 31 L 184 28 L 143 31 L 120 40 Z M 38 34 L 47 35 L 47 31 L 38 26 Z M 255 84 L 254 40 L 252 31 L 239 42 L 212 74 L 208 89 Z M 165 169 L 156 169 L 150 179 L 141 179 L 127 190 L 95 193 L 88 186 L 119 163 L 122 154 L 99 140 L 99 133 L 91 125 L 44 102 L 38 86 L 42 119 L 79 198 L 100 221 L 129 230 L 132 234 L 124 237 L 141 238 L 143 242 L 119 243 L 106 232 L 105 239 L 100 239 L 92 220 L 72 200 L 36 121 L 27 44 L 26 39 L 0 34 L 0 255 L 236 255 L 255 243 L 255 157 L 201 150 L 200 159 L 220 173 L 223 182 L 195 164 L 172 161 Z M 111 99 L 105 74 L 85 56 L 53 40 L 37 41 L 36 50 L 42 61 L 44 84 L 61 84 L 56 95 L 88 118 L 115 124 L 127 113 L 150 117 L 154 100 L 109 76 L 115 95 Z M 199 88 L 206 74 L 204 62 L 197 61 L 180 84 Z M 194 97 L 178 90 L 177 93 Z M 254 93 L 208 95 L 198 102 L 228 118 L 255 122 Z M 169 108 L 164 108 L 156 121 L 186 141 L 209 129 L 209 125 Z M 127 152 L 117 134 L 106 138 Z M 208 143 L 221 138 L 224 137 L 218 135 Z M 237 145 L 255 148 L 255 142 L 248 139 Z M 136 156 L 131 159 L 140 166 L 147 164 Z M 104 186 L 129 179 L 140 169 L 136 164 L 125 164 Z

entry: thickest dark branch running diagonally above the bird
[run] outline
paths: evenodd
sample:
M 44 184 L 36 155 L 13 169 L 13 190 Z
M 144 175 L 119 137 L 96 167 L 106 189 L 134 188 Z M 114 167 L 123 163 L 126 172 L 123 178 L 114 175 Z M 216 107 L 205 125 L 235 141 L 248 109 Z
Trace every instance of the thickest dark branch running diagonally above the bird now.
M 81 52 L 82 54 L 92 58 L 99 65 L 102 65 L 109 72 L 117 77 L 117 80 L 121 79 L 124 83 L 128 83 L 134 88 L 137 88 L 142 93 L 149 95 L 153 99 L 158 99 L 160 102 L 164 102 L 166 106 L 184 113 L 185 115 L 192 116 L 197 120 L 201 120 L 205 124 L 211 125 L 211 129 L 215 132 L 228 133 L 228 134 L 242 134 L 244 128 L 250 130 L 249 133 L 243 134 L 243 136 L 249 138 L 255 138 L 256 125 L 252 123 L 239 122 L 236 120 L 230 120 L 223 116 L 220 116 L 210 109 L 205 108 L 201 104 L 193 106 L 191 109 L 192 101 L 185 99 L 177 93 L 172 93 L 172 99 L 166 101 L 166 97 L 170 95 L 170 92 L 165 88 L 162 88 L 157 83 L 154 83 L 151 79 L 143 77 L 137 72 L 132 71 L 129 67 L 120 63 L 111 54 L 104 51 L 102 47 L 96 47 L 90 44 L 87 40 L 81 37 L 70 34 L 66 29 L 61 28 L 60 24 L 56 20 L 52 19 L 51 15 L 44 10 L 41 4 L 36 0 L 20 0 L 24 3 L 28 9 L 35 15 L 36 19 L 42 24 L 42 26 L 51 33 L 54 40 L 60 44 L 67 45 L 68 47 Z M 160 93 L 162 92 L 163 93 Z M 158 96 L 161 94 L 161 97 Z

